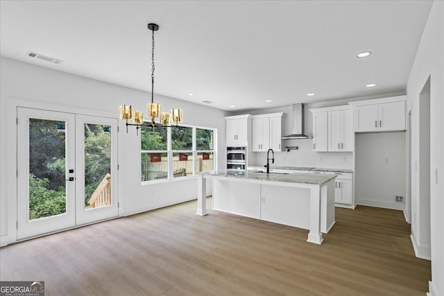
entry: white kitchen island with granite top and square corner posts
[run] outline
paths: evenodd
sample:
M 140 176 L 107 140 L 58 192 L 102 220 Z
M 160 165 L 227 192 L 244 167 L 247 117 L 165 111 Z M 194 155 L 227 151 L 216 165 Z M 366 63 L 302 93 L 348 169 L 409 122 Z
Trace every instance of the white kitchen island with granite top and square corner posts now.
M 309 229 L 309 243 L 321 244 L 334 225 L 336 175 L 221 170 L 198 174 L 196 214 L 208 214 L 205 179 L 213 180 L 213 209 Z

